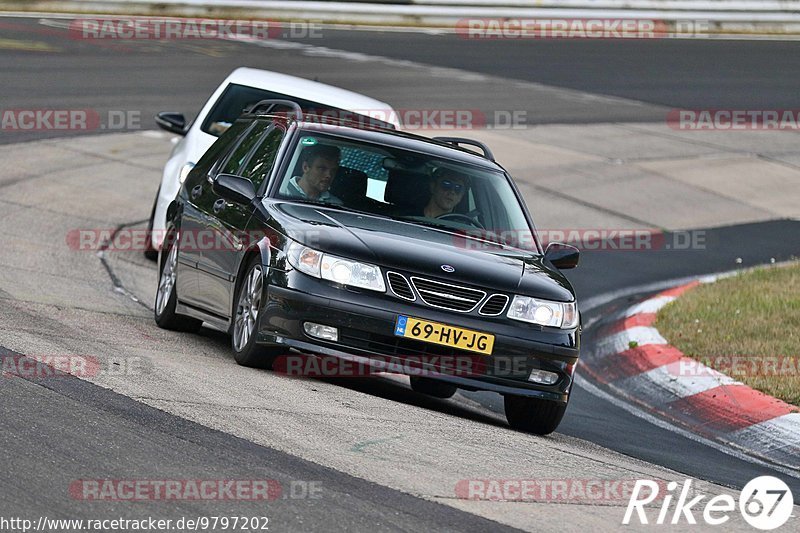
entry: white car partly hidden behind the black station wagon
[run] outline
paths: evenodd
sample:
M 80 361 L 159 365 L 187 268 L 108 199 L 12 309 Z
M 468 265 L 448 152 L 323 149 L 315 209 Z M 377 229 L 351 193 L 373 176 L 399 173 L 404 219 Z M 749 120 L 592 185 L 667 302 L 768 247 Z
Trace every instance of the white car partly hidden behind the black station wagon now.
M 234 70 L 217 87 L 191 124 L 187 125 L 186 118 L 180 113 L 163 112 L 156 116 L 160 128 L 183 138 L 175 144 L 164 165 L 148 224 L 150 243 L 145 251 L 147 257 L 155 259 L 158 256 L 164 241 L 167 207 L 195 163 L 245 108 L 267 99 L 292 100 L 310 113 L 355 114 L 359 117 L 354 117 L 356 120 L 366 117 L 377 120 L 382 126 L 400 127 L 397 112 L 389 104 L 363 94 L 278 72 L 252 68 Z

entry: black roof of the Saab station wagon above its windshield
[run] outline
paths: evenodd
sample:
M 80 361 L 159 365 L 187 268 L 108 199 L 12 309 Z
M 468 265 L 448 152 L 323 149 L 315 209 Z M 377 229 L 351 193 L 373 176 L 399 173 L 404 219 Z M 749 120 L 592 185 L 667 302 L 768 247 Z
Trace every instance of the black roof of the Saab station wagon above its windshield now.
M 286 114 L 282 113 L 257 113 L 254 115 L 249 115 L 249 117 L 270 118 L 273 120 L 280 119 L 287 124 L 296 125 L 299 129 L 313 129 L 317 132 L 340 135 L 359 141 L 391 145 L 405 150 L 424 152 L 435 157 L 451 159 L 461 163 L 483 167 L 488 170 L 505 172 L 505 169 L 503 169 L 503 167 L 501 167 L 499 164 L 487 159 L 486 157 L 483 157 L 476 152 L 405 131 L 380 128 L 370 125 L 351 124 L 347 122 L 336 124 L 331 123 L 331 120 L 327 117 L 319 117 L 319 121 L 298 120 L 296 117 L 287 116 Z M 244 116 L 243 118 L 248 117 Z

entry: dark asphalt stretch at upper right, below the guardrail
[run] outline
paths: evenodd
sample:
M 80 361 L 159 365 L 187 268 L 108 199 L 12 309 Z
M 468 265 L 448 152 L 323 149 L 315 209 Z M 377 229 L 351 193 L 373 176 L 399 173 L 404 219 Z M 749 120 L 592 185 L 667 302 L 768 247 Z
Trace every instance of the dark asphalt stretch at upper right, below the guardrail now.
M 335 49 L 669 107 L 792 109 L 798 105 L 800 42 L 465 39 L 338 31 L 325 35 L 325 46 Z M 584 121 L 595 120 L 587 116 Z

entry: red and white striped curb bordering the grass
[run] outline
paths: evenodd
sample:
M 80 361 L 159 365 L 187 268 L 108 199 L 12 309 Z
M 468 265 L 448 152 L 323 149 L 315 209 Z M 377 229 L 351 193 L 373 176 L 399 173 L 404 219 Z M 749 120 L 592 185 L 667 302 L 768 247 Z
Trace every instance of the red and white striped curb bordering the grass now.
M 616 394 L 692 432 L 800 470 L 800 409 L 670 346 L 656 313 L 703 278 L 663 291 L 602 327 L 583 370 Z

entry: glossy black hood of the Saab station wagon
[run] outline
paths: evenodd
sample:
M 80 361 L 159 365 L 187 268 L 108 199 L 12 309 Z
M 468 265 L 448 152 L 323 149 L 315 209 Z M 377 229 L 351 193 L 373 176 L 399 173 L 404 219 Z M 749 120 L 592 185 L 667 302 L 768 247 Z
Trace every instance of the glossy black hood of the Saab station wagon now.
M 291 202 L 266 205 L 283 233 L 311 248 L 440 281 L 555 301 L 572 288 L 542 256 L 500 248 L 446 231 L 337 209 Z M 454 270 L 446 272 L 442 265 Z

